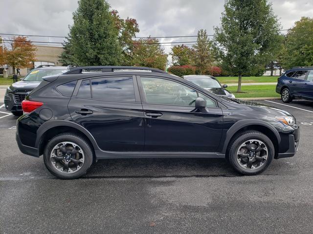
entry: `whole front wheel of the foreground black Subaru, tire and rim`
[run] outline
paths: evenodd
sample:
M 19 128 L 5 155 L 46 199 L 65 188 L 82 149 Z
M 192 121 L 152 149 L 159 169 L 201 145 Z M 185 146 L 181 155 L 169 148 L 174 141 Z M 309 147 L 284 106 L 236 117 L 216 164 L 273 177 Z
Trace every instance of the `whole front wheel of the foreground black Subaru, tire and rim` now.
M 252 142 L 249 142 L 249 140 L 252 140 Z M 260 144 L 259 142 L 262 142 L 264 144 Z M 248 143 L 248 144 L 246 144 Z M 250 145 L 251 144 L 251 145 Z M 245 147 L 254 147 L 257 145 L 260 145 L 262 147 L 262 151 L 260 151 L 259 156 L 257 156 L 258 153 L 253 153 L 252 151 L 248 151 L 245 149 Z M 246 146 L 243 146 L 246 145 Z M 247 153 L 246 153 L 247 150 Z M 238 154 L 239 152 L 239 154 Z M 243 154 L 241 153 L 243 152 Z M 249 153 L 252 152 L 252 153 Z M 262 156 L 261 154 L 266 154 L 267 156 Z M 272 162 L 275 154 L 275 148 L 271 140 L 264 135 L 261 132 L 258 131 L 246 131 L 242 132 L 231 140 L 231 142 L 228 145 L 226 156 L 228 157 L 228 161 L 230 165 L 240 174 L 246 175 L 246 176 L 253 176 L 262 173 L 265 171 L 270 163 Z M 241 155 L 245 155 L 245 158 L 242 159 Z M 246 156 L 248 155 L 248 156 Z M 261 159 L 260 158 L 265 158 Z M 252 162 L 255 160 L 250 167 L 249 162 L 246 164 L 245 167 L 245 161 L 249 160 L 249 162 Z M 259 165 L 259 166 L 258 166 Z M 250 168 L 249 168 L 250 167 Z M 254 167 L 254 168 L 253 168 Z

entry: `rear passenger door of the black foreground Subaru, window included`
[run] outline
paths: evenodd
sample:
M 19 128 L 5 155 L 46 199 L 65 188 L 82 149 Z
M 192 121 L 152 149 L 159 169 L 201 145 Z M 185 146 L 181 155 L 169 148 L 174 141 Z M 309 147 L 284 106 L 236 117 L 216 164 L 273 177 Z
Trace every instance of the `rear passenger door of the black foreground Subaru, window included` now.
M 143 151 L 143 110 L 135 76 L 79 80 L 68 109 L 105 151 Z

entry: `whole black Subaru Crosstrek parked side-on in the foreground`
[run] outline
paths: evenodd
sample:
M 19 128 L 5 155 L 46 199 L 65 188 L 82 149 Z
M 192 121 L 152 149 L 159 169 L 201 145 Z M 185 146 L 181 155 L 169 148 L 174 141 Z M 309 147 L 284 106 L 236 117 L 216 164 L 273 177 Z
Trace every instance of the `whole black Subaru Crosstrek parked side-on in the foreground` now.
M 16 140 L 44 156 L 55 176 L 84 175 L 106 158 L 226 158 L 244 175 L 298 149 L 299 127 L 286 111 L 221 98 L 145 67 L 78 67 L 44 78 L 22 102 Z

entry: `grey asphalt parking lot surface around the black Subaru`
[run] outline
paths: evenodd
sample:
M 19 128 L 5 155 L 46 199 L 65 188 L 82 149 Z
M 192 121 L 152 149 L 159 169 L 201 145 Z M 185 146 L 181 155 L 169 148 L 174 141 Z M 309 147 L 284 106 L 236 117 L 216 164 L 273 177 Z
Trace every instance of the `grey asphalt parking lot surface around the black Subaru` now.
M 60 180 L 15 142 L 0 108 L 0 233 L 312 233 L 313 102 L 259 101 L 294 115 L 296 156 L 259 176 L 221 159 L 110 159 Z M 3 103 L 0 103 L 0 106 Z

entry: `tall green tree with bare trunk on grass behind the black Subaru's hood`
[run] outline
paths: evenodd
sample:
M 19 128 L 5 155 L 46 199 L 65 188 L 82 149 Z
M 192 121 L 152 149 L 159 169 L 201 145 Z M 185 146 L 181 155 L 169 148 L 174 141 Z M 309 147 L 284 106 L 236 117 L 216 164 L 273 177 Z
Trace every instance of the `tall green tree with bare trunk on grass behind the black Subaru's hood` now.
M 223 69 L 241 78 L 273 60 L 280 44 L 280 24 L 267 0 L 226 0 L 221 25 L 215 27 L 214 50 Z

